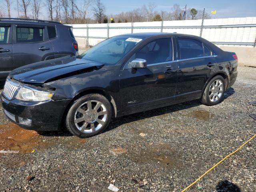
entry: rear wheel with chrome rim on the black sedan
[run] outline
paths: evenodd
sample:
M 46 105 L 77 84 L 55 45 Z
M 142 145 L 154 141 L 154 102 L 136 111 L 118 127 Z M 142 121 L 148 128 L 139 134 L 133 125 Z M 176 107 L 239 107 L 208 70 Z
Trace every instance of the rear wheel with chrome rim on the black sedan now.
M 213 106 L 222 102 L 226 85 L 222 76 L 215 76 L 207 84 L 200 102 L 204 105 Z

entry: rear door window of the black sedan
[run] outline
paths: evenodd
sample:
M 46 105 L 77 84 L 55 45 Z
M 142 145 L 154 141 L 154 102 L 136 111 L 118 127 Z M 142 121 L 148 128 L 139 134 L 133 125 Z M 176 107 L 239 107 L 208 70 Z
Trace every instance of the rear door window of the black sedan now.
M 188 59 L 204 56 L 202 42 L 189 38 L 178 38 L 180 58 Z

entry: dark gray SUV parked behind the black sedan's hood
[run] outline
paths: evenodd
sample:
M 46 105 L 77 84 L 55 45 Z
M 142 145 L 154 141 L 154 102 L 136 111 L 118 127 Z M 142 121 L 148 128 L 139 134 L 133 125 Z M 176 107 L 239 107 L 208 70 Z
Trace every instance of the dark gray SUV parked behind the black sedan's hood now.
M 0 80 L 20 66 L 76 55 L 71 28 L 59 22 L 0 18 Z

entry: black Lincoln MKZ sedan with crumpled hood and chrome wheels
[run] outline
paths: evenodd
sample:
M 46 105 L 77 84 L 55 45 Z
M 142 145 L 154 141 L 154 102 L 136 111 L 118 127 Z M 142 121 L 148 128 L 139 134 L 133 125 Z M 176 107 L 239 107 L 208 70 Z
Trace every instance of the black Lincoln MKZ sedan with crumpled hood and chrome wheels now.
M 32 130 L 102 132 L 112 117 L 200 99 L 220 103 L 237 76 L 235 53 L 172 33 L 114 36 L 80 56 L 13 70 L 1 94 L 6 116 Z

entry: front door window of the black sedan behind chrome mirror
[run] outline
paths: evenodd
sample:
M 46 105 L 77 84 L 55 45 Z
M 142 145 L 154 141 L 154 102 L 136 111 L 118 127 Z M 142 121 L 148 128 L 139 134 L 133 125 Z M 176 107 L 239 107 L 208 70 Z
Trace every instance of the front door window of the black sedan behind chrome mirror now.
M 146 44 L 136 52 L 125 64 L 124 69 L 130 69 L 134 59 L 145 59 L 148 64 L 172 61 L 172 38 L 162 38 Z

